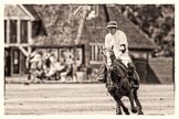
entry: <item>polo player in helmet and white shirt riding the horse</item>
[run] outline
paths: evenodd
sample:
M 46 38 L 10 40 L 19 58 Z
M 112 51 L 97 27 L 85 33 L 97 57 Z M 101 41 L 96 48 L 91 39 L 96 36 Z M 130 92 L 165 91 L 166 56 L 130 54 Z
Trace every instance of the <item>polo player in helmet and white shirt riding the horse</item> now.
M 128 54 L 129 51 L 126 34 L 118 30 L 116 21 L 108 22 L 106 29 L 108 30 L 108 34 L 105 36 L 105 48 L 110 48 L 114 51 L 117 61 L 120 61 L 124 64 L 124 67 L 127 68 L 128 78 L 130 82 L 133 82 L 131 86 L 138 87 L 139 77 Z M 106 66 L 102 65 L 101 68 L 102 74 L 99 75 L 98 80 L 106 83 Z M 137 75 L 138 78 L 134 78 L 134 75 Z

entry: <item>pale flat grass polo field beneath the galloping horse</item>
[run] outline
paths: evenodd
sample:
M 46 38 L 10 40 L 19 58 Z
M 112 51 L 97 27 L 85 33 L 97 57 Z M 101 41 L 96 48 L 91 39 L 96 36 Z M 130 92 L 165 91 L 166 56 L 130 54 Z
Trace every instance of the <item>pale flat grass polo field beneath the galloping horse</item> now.
M 173 115 L 172 85 L 140 85 L 145 115 Z M 128 99 L 123 98 L 129 107 Z M 130 107 L 129 107 L 130 109 Z M 115 115 L 104 84 L 7 84 L 6 115 Z

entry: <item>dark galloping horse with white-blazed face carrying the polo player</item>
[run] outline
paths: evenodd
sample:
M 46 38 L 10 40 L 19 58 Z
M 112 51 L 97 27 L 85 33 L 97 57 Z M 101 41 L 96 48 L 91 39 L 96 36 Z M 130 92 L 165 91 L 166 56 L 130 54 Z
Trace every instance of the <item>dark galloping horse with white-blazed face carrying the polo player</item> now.
M 116 115 L 122 115 L 120 107 L 126 115 L 129 115 L 127 107 L 122 101 L 124 96 L 129 98 L 131 112 L 143 115 L 141 105 L 137 96 L 138 87 L 131 87 L 131 83 L 127 76 L 127 68 L 120 61 L 116 60 L 113 50 L 105 50 L 103 53 L 105 54 L 106 65 L 106 88 L 117 104 Z M 135 102 L 137 107 L 135 107 Z

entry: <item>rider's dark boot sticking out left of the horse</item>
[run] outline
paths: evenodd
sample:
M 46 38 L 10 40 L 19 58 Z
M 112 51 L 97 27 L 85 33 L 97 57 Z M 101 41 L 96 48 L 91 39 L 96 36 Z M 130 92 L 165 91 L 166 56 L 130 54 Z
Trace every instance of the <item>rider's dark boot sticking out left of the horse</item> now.
M 106 83 L 106 66 L 102 65 L 101 69 L 102 73 L 101 75 L 97 77 L 97 80 L 101 83 Z

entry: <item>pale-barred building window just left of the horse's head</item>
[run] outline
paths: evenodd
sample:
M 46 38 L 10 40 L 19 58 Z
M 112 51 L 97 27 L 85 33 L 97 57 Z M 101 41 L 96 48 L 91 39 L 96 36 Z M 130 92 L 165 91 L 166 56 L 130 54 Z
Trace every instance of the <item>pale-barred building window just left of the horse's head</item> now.
M 90 63 L 91 64 L 101 64 L 103 62 L 101 50 L 104 48 L 104 44 L 98 43 L 98 46 L 95 43 L 90 43 L 90 47 L 91 47 Z

